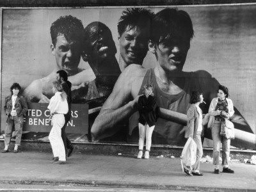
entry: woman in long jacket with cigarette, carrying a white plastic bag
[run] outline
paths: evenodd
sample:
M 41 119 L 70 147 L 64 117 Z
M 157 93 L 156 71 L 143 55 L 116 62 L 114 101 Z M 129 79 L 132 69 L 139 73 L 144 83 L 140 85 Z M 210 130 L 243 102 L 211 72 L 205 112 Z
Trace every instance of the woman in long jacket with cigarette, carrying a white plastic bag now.
M 189 168 L 184 166 L 184 172 L 188 175 L 196 175 L 202 176 L 203 174 L 199 172 L 200 168 L 200 159 L 203 156 L 203 147 L 201 136 L 204 131 L 203 129 L 203 116 L 202 110 L 199 108 L 199 104 L 201 104 L 204 100 L 203 93 L 200 91 L 192 92 L 190 103 L 191 106 L 188 109 L 188 124 L 186 127 L 185 138 L 193 138 L 196 143 L 196 162 L 192 166 L 191 172 L 189 172 Z

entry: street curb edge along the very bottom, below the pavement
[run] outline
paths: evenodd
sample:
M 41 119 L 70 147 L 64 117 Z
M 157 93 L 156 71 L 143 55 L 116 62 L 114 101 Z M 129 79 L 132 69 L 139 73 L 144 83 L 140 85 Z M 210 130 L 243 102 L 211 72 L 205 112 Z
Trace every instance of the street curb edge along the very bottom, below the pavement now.
M 0 184 L 33 184 L 33 185 L 68 185 L 68 186 L 90 186 L 100 188 L 137 188 L 137 189 L 162 189 L 162 190 L 184 190 L 184 191 L 225 191 L 225 192 L 255 192 L 255 189 L 236 189 L 211 186 L 182 186 L 170 184 L 145 184 L 131 182 L 108 182 L 101 180 L 0 180 Z

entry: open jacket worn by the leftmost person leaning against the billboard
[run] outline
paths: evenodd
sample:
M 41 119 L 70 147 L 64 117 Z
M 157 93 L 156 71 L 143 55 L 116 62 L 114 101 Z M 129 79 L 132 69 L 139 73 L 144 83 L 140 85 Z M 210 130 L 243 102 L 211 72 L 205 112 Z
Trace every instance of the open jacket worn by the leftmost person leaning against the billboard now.
M 17 116 L 25 115 L 28 111 L 28 104 L 24 96 L 18 95 L 15 101 Z M 12 111 L 12 95 L 5 97 L 4 112 L 8 116 Z

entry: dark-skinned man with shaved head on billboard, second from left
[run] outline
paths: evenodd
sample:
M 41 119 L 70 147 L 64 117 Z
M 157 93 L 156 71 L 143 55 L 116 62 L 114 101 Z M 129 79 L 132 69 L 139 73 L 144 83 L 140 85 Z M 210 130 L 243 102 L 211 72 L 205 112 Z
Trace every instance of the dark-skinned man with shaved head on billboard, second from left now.
M 108 98 L 121 74 L 115 54 L 116 46 L 108 26 L 95 21 L 84 28 L 82 58 L 92 68 L 97 92 L 103 100 Z

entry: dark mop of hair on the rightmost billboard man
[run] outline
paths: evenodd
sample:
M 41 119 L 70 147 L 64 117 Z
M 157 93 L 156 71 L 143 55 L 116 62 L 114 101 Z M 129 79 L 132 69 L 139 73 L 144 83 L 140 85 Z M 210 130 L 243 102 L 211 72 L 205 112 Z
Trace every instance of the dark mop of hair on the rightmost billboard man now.
M 188 41 L 193 38 L 192 20 L 187 12 L 165 8 L 152 20 L 150 40 L 157 45 L 170 40 Z

